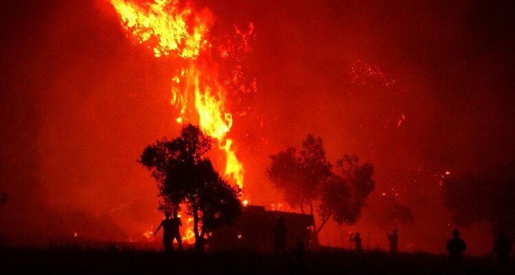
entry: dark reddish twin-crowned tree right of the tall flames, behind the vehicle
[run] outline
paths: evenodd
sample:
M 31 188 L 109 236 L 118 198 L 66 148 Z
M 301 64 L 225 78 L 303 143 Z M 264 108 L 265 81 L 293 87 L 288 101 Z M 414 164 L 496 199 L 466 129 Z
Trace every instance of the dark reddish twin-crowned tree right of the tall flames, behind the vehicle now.
M 271 155 L 266 175 L 290 206 L 299 207 L 302 213 L 319 214 L 321 224 L 318 228 L 315 224 L 312 232 L 317 244 L 319 232 L 331 217 L 339 224 L 356 223 L 365 199 L 374 190 L 374 167 L 358 162 L 356 155 L 344 155 L 333 167 L 321 137 L 310 134 L 301 151 L 290 147 Z

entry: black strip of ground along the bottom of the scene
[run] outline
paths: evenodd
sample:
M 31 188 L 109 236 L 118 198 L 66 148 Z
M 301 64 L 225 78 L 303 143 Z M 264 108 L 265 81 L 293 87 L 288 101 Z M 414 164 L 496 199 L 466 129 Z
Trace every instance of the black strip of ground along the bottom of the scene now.
M 325 249 L 306 252 L 170 253 L 117 248 L 0 249 L 0 274 L 448 274 L 446 257 L 427 253 Z M 504 273 L 504 272 L 503 272 Z M 468 258 L 463 274 L 499 274 L 493 259 Z M 515 274 L 507 272 L 506 274 Z

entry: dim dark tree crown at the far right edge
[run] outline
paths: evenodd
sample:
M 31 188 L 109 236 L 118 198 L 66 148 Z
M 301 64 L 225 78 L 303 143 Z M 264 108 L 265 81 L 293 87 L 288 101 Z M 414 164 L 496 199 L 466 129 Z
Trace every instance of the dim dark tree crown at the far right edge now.
M 515 162 L 484 172 L 466 173 L 443 180 L 444 205 L 454 221 L 471 225 L 485 221 L 493 228 L 515 232 Z

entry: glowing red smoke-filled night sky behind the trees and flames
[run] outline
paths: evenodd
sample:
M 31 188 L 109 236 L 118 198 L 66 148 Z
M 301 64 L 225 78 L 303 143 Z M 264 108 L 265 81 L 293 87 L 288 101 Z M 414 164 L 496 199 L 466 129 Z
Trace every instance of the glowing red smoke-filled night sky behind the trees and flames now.
M 356 154 L 376 172 L 360 221 L 326 225 L 322 244 L 350 248 L 348 232 L 359 231 L 365 248 L 384 249 L 385 231 L 397 227 L 400 250 L 444 252 L 459 228 L 470 253 L 490 252 L 496 228 L 455 223 L 442 175 L 514 160 L 515 9 L 362 2 L 193 1 L 220 32 L 254 26 L 244 66 L 258 89 L 229 98 L 245 196 L 280 203 L 265 176 L 268 156 L 312 133 L 331 162 Z M 0 26 L 0 191 L 9 195 L 0 231 L 13 243 L 73 232 L 145 241 L 161 214 L 155 181 L 136 160 L 179 133 L 174 61 L 133 43 L 104 0 L 2 1 Z M 412 222 L 390 217 L 400 206 Z

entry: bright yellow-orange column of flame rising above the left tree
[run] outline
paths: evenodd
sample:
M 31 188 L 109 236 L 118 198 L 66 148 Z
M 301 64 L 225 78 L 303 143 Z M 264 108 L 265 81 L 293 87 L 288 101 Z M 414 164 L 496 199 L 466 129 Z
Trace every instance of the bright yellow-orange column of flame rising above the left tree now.
M 179 5 L 178 0 L 153 3 L 111 0 L 111 3 L 122 26 L 137 43 L 150 48 L 156 58 L 179 56 L 185 61 L 187 65 L 172 78 L 171 103 L 181 113 L 176 121 L 192 121 L 218 141 L 226 155 L 225 176 L 242 188 L 242 164 L 231 148 L 233 140 L 226 137 L 233 122 L 225 107 L 227 93 L 218 83 L 214 66 L 209 68 L 209 58 L 199 61 L 212 47 L 207 40 L 214 20 L 211 12 L 196 11 L 189 3 Z M 192 113 L 192 109 L 196 112 Z

